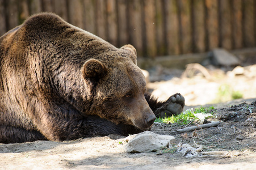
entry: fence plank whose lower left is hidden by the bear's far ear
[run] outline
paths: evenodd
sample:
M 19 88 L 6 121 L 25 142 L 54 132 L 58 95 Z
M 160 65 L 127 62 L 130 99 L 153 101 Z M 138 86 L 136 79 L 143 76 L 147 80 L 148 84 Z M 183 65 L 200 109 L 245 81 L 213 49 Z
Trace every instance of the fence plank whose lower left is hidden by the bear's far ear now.
M 142 29 L 142 5 L 140 0 L 128 1 L 128 30 L 129 43 L 135 46 L 137 56 L 144 56 L 143 40 L 144 30 Z

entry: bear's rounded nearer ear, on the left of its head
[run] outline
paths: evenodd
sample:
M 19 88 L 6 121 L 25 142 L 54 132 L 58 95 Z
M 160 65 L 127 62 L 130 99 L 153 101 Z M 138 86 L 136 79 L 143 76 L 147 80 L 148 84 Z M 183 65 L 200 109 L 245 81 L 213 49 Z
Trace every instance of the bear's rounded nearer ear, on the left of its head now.
M 83 64 L 82 74 L 84 78 L 98 80 L 106 73 L 107 68 L 97 59 L 89 59 Z

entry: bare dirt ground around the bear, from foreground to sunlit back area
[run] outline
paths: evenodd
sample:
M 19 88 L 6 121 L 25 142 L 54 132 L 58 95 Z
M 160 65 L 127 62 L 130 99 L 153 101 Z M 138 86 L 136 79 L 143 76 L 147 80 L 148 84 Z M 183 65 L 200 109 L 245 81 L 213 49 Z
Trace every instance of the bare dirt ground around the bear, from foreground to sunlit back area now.
M 184 126 L 154 124 L 152 131 L 173 135 L 176 145 L 188 143 L 195 148 L 202 146 L 203 151 L 225 151 L 225 155 L 186 158 L 166 150 L 163 154 L 128 154 L 123 151 L 124 137 L 109 135 L 69 142 L 0 144 L 0 169 L 252 169 L 256 167 L 256 72 L 253 75 L 249 68 L 239 74 L 209 68 L 207 71 L 210 75 L 207 78 L 202 70 L 189 72 L 190 75 L 187 71 L 183 76 L 179 71 L 173 71 L 178 76 L 160 71 L 163 77 L 169 77 L 149 83 L 149 88 L 162 100 L 174 94 L 173 91 L 181 92 L 186 99 L 185 109 L 221 101 L 210 104 L 215 107 L 212 110 L 215 117 L 208 120 L 220 124 L 181 134 L 175 130 Z M 152 75 L 150 79 L 156 77 Z M 221 93 L 223 84 L 232 89 L 229 94 Z M 232 100 L 232 91 L 239 91 L 243 99 Z M 190 126 L 198 124 L 195 121 Z

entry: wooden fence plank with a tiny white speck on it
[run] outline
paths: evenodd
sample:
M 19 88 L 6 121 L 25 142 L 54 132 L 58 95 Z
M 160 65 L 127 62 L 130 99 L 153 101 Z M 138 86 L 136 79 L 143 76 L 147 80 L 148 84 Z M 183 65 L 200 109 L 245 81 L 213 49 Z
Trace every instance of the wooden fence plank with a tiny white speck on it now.
M 155 16 L 156 8 L 154 0 L 144 0 L 145 11 L 145 28 L 146 28 L 146 55 L 149 57 L 155 57 L 157 55 L 156 48 L 156 27 Z

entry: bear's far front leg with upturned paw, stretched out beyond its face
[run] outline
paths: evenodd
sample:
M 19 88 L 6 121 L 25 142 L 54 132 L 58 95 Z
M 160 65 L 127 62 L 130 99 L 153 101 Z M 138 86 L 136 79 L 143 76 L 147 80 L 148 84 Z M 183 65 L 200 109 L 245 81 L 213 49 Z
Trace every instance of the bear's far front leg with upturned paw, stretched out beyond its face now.
M 150 94 L 145 94 L 149 107 L 156 114 L 156 117 L 169 117 L 183 111 L 185 99 L 181 94 L 174 94 L 166 101 L 157 101 Z

